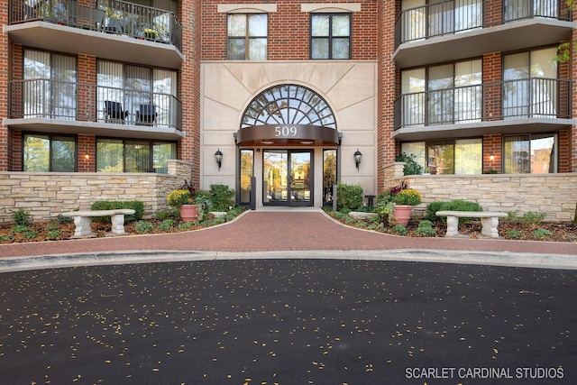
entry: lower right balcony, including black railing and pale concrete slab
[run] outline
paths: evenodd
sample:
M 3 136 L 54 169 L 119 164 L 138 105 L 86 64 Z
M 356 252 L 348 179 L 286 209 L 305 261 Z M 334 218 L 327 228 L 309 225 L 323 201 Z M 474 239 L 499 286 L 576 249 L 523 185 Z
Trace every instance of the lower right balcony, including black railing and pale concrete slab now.
M 571 81 L 527 78 L 403 94 L 395 100 L 402 140 L 555 131 L 570 126 Z

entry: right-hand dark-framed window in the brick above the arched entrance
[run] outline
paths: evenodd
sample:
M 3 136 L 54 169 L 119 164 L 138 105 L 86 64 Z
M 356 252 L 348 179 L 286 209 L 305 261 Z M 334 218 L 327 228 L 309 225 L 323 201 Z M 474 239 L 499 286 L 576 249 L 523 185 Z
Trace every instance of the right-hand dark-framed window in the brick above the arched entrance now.
M 351 14 L 310 16 L 310 59 L 351 59 Z

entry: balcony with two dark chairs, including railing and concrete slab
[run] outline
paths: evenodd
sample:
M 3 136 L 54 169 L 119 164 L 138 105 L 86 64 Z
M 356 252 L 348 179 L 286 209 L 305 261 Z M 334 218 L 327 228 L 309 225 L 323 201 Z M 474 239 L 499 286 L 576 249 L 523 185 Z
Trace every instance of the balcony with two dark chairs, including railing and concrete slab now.
M 28 131 L 178 140 L 182 104 L 176 96 L 50 79 L 8 84 L 4 124 Z

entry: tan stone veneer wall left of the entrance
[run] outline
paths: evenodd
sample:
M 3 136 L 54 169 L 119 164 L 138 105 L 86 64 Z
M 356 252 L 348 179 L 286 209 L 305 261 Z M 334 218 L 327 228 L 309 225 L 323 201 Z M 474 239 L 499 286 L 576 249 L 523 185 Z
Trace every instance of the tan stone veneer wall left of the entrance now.
M 191 163 L 169 160 L 169 174 L 0 172 L 0 223 L 24 208 L 34 221 L 65 211 L 88 210 L 96 200 L 140 200 L 144 215 L 169 208 L 166 197 L 190 179 Z

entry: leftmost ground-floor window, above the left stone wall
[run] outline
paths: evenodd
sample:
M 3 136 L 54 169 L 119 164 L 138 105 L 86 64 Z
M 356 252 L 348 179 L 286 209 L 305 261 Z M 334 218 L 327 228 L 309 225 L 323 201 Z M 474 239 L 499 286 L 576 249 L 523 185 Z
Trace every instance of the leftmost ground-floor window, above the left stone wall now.
M 23 170 L 74 172 L 76 139 L 72 136 L 27 133 L 23 135 Z

